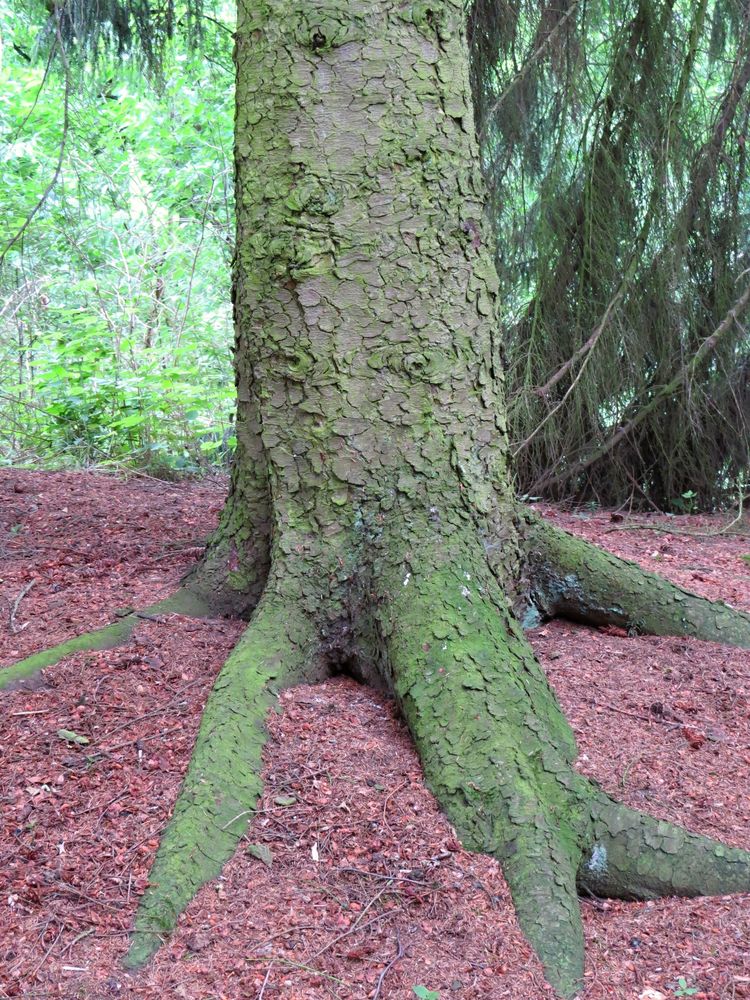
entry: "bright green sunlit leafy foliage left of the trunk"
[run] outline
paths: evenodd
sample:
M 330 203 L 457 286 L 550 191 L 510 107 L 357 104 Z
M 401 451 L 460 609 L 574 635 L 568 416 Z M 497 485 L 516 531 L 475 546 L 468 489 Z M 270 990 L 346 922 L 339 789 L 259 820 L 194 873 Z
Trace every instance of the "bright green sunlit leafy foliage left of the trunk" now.
M 233 409 L 231 22 L 158 81 L 66 73 L 45 23 L 0 0 L 0 454 L 196 468 Z

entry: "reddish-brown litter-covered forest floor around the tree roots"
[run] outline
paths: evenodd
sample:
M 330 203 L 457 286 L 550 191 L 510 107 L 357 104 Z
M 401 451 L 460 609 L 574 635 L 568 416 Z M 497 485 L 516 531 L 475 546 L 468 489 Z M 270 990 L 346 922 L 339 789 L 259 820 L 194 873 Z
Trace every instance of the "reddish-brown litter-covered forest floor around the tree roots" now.
M 225 488 L 0 472 L 0 663 L 173 590 Z M 727 516 L 544 513 L 750 610 L 747 520 L 721 533 Z M 549 997 L 498 865 L 457 842 L 393 704 L 346 678 L 284 694 L 245 841 L 152 963 L 123 971 L 201 709 L 241 630 L 144 620 L 128 646 L 0 696 L 0 997 Z M 746 651 L 564 622 L 530 638 L 581 770 L 630 805 L 750 848 Z M 748 896 L 592 900 L 583 913 L 585 1000 L 750 997 Z

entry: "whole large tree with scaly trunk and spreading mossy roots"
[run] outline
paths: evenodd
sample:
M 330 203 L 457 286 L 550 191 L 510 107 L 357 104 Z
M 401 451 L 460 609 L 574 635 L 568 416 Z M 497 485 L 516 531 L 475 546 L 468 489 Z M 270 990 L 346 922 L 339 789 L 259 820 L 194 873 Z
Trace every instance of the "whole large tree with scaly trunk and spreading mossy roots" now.
M 750 854 L 631 810 L 574 768 L 521 620 L 750 646 L 750 616 L 513 497 L 492 250 L 460 0 L 240 0 L 238 451 L 206 555 L 154 608 L 250 616 L 217 678 L 136 917 L 146 961 L 231 856 L 278 691 L 385 686 L 464 843 L 503 865 L 550 983 L 577 992 L 577 890 L 750 889 Z M 137 615 L 29 657 L 122 641 Z

